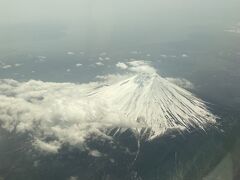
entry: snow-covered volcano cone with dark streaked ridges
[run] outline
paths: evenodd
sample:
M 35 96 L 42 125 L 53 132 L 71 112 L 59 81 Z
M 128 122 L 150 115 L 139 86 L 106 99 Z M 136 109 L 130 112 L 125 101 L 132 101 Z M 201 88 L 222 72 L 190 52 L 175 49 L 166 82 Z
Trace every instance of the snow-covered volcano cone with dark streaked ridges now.
M 90 96 L 103 99 L 129 123 L 151 128 L 155 136 L 169 128 L 204 129 L 216 119 L 202 100 L 157 73 L 137 73 Z

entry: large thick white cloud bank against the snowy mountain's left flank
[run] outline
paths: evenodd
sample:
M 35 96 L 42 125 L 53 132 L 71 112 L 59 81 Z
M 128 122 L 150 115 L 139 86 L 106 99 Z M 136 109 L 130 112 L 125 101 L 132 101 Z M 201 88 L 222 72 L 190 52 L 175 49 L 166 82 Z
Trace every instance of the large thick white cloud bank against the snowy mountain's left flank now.
M 62 143 L 80 146 L 91 134 L 105 137 L 101 128 L 121 127 L 124 120 L 101 98 L 87 98 L 98 86 L 0 80 L 1 126 L 32 134 L 34 147 L 51 153 Z M 46 141 L 49 136 L 55 140 Z

